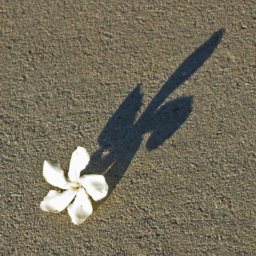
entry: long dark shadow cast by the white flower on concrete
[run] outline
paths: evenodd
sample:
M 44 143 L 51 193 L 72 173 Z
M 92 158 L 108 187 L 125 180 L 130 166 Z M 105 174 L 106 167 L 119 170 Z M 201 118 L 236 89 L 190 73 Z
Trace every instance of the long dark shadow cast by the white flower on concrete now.
M 135 119 L 142 106 L 141 84 L 127 96 L 115 114 L 109 119 L 99 136 L 100 149 L 91 156 L 91 161 L 81 175 L 86 173 L 105 173 L 109 185 L 107 197 L 115 189 L 137 153 L 143 134 L 151 132 L 147 149 L 154 150 L 179 129 L 186 121 L 192 105 L 192 97 L 164 101 L 183 84 L 210 57 L 220 42 L 225 30 L 215 32 L 203 45 L 183 61 L 180 67 L 149 103 L 137 122 Z M 106 154 L 103 156 L 103 153 Z M 94 204 L 94 209 L 107 199 Z

